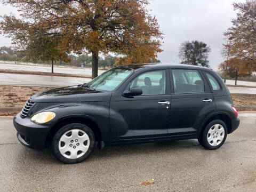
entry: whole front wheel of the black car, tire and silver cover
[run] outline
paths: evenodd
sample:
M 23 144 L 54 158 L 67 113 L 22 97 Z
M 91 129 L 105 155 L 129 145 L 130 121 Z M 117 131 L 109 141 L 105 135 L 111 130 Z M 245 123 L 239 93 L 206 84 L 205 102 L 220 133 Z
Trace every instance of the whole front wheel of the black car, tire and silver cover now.
M 95 148 L 95 136 L 89 126 L 71 123 L 61 127 L 52 139 L 53 155 L 67 164 L 88 158 Z

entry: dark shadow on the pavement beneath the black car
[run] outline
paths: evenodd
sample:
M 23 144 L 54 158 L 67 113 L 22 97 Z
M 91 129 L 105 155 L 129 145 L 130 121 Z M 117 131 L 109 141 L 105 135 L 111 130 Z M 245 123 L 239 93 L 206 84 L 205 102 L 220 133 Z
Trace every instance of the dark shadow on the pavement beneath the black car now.
M 95 148 L 91 156 L 86 159 L 85 162 L 94 162 L 109 158 L 116 158 L 124 155 L 134 154 L 149 154 L 149 153 L 174 153 L 177 151 L 191 149 L 203 149 L 196 139 L 191 140 L 173 140 L 166 142 L 154 142 L 154 143 L 143 143 L 143 144 L 132 144 L 132 145 L 119 145 L 105 147 L 102 150 Z M 17 161 L 23 161 L 26 163 L 33 161 L 35 164 L 46 163 L 46 164 L 59 164 L 60 162 L 51 153 L 51 150 L 33 150 L 26 147 L 21 147 L 17 154 Z M 18 160 L 20 159 L 20 160 Z

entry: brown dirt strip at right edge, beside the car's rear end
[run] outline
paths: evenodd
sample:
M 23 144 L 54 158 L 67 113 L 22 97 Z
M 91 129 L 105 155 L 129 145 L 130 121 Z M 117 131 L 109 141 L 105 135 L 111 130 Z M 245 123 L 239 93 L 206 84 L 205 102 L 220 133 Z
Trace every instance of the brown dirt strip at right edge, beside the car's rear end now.
M 234 106 L 256 106 L 256 94 L 239 94 L 233 93 L 231 97 Z

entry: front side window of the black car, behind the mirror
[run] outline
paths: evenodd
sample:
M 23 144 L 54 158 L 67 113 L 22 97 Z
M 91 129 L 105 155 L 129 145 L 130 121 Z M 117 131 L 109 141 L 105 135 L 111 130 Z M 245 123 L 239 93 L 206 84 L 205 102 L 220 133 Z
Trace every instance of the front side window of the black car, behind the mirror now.
M 139 86 L 142 89 L 142 95 L 165 94 L 166 71 L 156 70 L 141 74 L 133 79 L 130 88 Z

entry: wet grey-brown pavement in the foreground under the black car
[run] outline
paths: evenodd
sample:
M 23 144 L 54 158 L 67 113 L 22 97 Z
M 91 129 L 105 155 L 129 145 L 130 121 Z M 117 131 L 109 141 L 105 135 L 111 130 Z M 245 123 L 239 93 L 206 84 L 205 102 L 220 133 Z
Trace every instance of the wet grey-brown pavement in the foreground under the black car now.
M 255 191 L 256 113 L 238 117 L 218 150 L 197 140 L 117 146 L 73 165 L 23 147 L 12 117 L 0 117 L 0 191 Z M 141 186 L 144 179 L 155 184 Z

